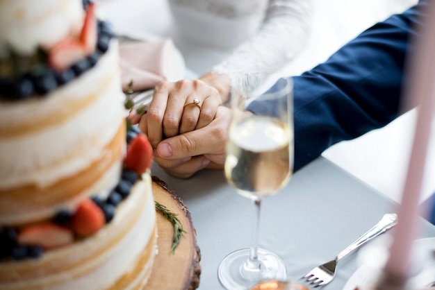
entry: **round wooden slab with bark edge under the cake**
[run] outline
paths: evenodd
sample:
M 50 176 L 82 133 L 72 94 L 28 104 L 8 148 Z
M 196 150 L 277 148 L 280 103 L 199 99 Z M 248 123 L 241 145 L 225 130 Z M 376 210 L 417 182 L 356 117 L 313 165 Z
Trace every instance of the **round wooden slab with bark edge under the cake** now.
M 171 251 L 174 226 L 159 211 L 156 212 L 158 230 L 158 254 L 154 260 L 151 277 L 145 289 L 152 290 L 194 290 L 199 287 L 201 275 L 201 252 L 197 246 L 197 233 L 193 228 L 188 208 L 174 191 L 167 189 L 162 180 L 153 176 L 154 200 L 167 207 L 177 218 L 186 232 L 181 242 Z

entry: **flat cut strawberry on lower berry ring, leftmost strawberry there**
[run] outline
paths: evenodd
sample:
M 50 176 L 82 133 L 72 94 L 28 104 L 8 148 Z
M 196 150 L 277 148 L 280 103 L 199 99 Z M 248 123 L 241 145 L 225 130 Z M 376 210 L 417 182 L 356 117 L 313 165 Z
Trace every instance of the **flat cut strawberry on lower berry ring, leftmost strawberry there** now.
M 38 223 L 23 228 L 18 234 L 17 241 L 19 244 L 51 249 L 71 244 L 74 241 L 74 234 L 68 228 L 55 223 Z

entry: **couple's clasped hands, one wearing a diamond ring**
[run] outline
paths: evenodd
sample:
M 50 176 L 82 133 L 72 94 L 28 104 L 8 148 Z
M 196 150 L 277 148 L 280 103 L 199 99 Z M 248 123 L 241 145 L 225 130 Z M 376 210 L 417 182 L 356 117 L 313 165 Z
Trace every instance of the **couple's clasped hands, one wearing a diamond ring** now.
M 190 178 L 204 168 L 222 169 L 231 112 L 221 94 L 201 79 L 163 82 L 154 88 L 147 112 L 131 112 L 131 123 L 148 136 L 154 162 L 165 172 Z

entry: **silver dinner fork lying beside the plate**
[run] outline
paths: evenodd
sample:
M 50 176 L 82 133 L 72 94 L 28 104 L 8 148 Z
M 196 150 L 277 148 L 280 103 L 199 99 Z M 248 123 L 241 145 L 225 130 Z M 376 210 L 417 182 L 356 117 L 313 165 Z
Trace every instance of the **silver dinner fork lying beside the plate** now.
M 331 282 L 332 279 L 334 279 L 334 276 L 336 275 L 336 265 L 338 261 L 340 261 L 340 259 L 343 259 L 346 255 L 352 253 L 363 244 L 366 244 L 367 241 L 370 241 L 374 237 L 379 236 L 379 234 L 392 228 L 396 224 L 397 214 L 384 214 L 384 216 L 379 221 L 379 223 L 377 223 L 377 225 L 368 230 L 352 244 L 347 246 L 347 248 L 342 250 L 334 259 L 331 259 L 331 261 L 313 268 L 313 270 L 309 271 L 309 273 L 304 275 L 302 279 L 304 279 L 306 282 L 309 282 L 311 287 L 314 288 L 325 286 L 326 284 Z

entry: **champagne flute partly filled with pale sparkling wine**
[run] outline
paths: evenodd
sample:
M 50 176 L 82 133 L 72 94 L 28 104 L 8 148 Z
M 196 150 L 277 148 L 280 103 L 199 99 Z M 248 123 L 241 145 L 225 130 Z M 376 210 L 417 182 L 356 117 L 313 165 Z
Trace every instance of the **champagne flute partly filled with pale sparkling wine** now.
M 286 266 L 276 254 L 258 248 L 261 200 L 287 185 L 293 172 L 293 82 L 280 78 L 267 92 L 252 96 L 261 112 L 247 113 L 245 96 L 233 89 L 224 172 L 238 194 L 254 203 L 256 219 L 249 248 L 225 257 L 218 268 L 221 284 L 249 289 L 261 280 L 285 280 Z

